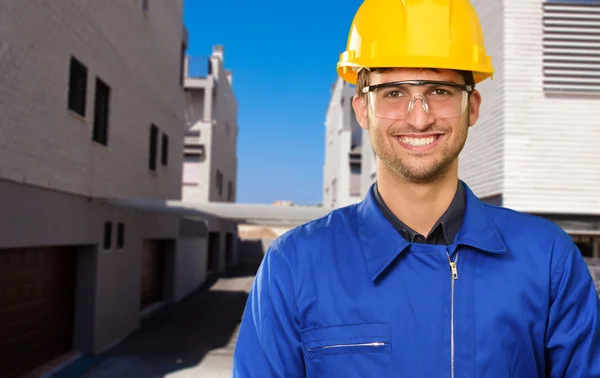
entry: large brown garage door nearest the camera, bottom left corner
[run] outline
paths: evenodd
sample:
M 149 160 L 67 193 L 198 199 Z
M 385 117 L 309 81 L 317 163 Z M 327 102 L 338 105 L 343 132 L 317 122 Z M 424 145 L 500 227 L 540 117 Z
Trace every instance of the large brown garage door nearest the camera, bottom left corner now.
M 0 249 L 0 376 L 18 377 L 72 347 L 76 249 Z

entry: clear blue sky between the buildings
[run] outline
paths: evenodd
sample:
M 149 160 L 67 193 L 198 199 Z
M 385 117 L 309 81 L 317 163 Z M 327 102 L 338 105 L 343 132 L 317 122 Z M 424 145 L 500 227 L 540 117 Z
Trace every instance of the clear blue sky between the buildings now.
M 322 201 L 325 113 L 360 0 L 185 0 L 188 55 L 225 48 L 238 101 L 237 200 Z

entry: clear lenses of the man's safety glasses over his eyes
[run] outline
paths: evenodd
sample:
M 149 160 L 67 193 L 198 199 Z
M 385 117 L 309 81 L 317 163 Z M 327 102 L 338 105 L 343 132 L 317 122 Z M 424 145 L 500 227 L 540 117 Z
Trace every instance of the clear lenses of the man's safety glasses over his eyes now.
M 435 118 L 453 118 L 464 113 L 469 95 L 461 88 L 449 85 L 423 85 L 415 93 L 414 85 L 400 84 L 376 88 L 369 92 L 373 114 L 378 118 L 400 120 L 408 118 L 415 106 Z M 420 102 L 420 104 L 419 104 Z

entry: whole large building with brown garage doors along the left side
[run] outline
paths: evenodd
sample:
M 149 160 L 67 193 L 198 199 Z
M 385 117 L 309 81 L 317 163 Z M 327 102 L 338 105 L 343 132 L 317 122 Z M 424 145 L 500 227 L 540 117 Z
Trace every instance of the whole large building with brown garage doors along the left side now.
M 2 377 L 102 352 L 205 280 L 204 221 L 126 205 L 181 198 L 182 13 L 183 0 L 0 6 Z

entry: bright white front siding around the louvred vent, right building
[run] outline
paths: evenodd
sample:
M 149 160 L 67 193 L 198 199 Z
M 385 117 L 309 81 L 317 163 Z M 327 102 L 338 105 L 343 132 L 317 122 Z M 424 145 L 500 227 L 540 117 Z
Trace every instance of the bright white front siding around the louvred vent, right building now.
M 543 3 L 505 4 L 504 205 L 525 212 L 600 214 L 600 101 L 544 93 Z

